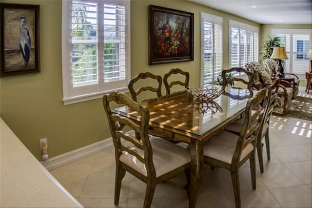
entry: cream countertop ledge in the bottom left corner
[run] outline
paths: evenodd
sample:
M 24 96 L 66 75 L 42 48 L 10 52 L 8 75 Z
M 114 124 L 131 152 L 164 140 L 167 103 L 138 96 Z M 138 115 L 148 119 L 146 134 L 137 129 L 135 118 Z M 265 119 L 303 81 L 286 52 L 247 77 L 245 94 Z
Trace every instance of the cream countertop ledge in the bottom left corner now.
M 0 118 L 0 207 L 82 208 Z

